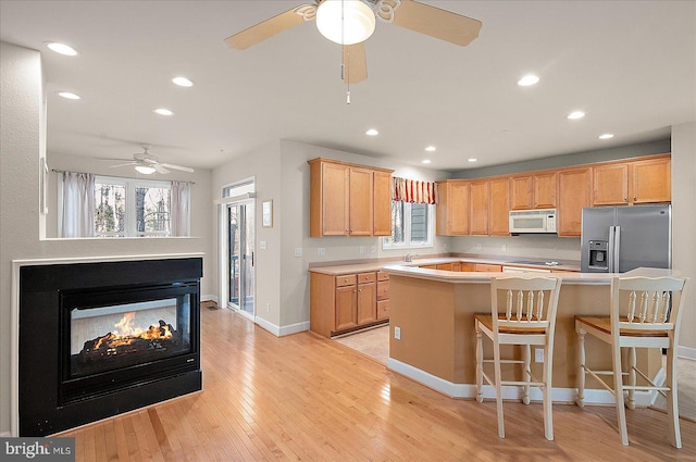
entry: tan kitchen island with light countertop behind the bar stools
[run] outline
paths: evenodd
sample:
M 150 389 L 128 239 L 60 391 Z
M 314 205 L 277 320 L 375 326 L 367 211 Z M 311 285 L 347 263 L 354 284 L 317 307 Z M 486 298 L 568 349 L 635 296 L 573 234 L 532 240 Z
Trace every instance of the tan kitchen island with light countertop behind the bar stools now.
M 391 309 L 389 320 L 388 369 L 403 374 L 455 398 L 475 397 L 474 313 L 490 312 L 490 277 L 501 273 L 459 273 L 406 265 L 388 265 Z M 625 276 L 670 275 L 669 270 L 637 269 Z M 554 349 L 554 401 L 575 400 L 575 314 L 609 314 L 611 278 L 607 273 L 552 273 L 562 277 L 556 321 Z M 398 333 L 398 339 L 396 338 Z M 611 369 L 609 350 L 598 340 L 587 338 L 588 361 Z M 508 347 L 508 354 L 520 354 Z M 484 342 L 484 354 L 492 351 Z M 504 350 L 505 351 L 505 350 Z M 506 353 L 504 353 L 506 354 Z M 659 351 L 638 351 L 638 365 L 651 377 L 663 376 Z M 542 364 L 533 363 L 532 372 L 540 376 Z M 508 371 L 520 374 L 521 371 Z M 504 374 L 506 374 L 504 370 Z M 588 403 L 612 403 L 613 397 L 600 385 L 587 380 Z M 484 397 L 495 391 L 484 387 Z M 504 391 L 506 398 L 518 398 L 518 389 Z M 538 389 L 532 399 L 540 400 Z M 648 405 L 649 396 L 636 394 L 637 405 Z

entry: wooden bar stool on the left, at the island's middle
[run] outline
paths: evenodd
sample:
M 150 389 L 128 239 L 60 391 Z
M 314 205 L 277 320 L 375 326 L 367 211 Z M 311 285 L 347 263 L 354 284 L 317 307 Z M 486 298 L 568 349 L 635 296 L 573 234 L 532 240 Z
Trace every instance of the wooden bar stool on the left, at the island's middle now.
M 521 386 L 522 402 L 530 403 L 530 387 L 539 387 L 544 400 L 544 434 L 554 439 L 551 417 L 551 376 L 554 359 L 554 333 L 561 279 L 555 277 L 492 277 L 490 313 L 474 314 L 476 327 L 476 400 L 483 401 L 483 379 L 496 389 L 498 436 L 505 438 L 502 415 L 502 387 Z M 498 300 L 505 302 L 498 305 Z M 500 308 L 504 313 L 499 314 Z M 493 341 L 493 360 L 483 359 L 483 334 Z M 500 358 L 501 345 L 523 346 L 523 360 Z M 538 380 L 532 374 L 531 347 L 544 348 L 544 373 Z M 484 363 L 494 364 L 494 375 L 488 376 Z M 522 380 L 504 380 L 501 364 L 522 364 Z

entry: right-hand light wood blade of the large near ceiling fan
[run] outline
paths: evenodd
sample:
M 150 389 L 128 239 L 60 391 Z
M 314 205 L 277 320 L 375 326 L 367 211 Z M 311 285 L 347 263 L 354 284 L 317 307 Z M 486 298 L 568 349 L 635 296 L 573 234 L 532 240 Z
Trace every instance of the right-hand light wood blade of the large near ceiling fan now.
M 461 47 L 478 37 L 482 26 L 478 20 L 413 0 L 401 0 L 394 12 L 394 24 Z

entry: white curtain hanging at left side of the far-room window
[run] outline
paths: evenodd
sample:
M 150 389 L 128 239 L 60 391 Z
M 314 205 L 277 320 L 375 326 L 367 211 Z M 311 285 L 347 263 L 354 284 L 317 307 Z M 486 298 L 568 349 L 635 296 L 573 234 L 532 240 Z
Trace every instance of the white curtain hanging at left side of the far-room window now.
M 63 172 L 61 237 L 95 236 L 95 175 Z

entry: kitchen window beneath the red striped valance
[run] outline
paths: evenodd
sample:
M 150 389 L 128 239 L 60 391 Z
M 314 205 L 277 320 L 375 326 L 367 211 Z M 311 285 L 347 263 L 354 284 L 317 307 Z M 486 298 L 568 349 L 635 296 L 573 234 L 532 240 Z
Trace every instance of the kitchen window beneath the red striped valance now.
M 391 201 L 391 236 L 382 240 L 382 248 L 432 247 L 434 207 Z

